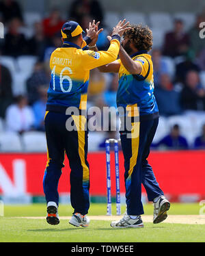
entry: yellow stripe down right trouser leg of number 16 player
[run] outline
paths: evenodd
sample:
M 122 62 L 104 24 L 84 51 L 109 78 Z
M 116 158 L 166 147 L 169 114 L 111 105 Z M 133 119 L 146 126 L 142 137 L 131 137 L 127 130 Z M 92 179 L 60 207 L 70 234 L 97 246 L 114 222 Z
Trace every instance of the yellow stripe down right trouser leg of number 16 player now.
M 81 166 L 83 167 L 83 181 L 89 181 L 89 168 L 85 164 L 85 116 L 72 116 L 74 124 L 77 127 L 78 142 L 79 142 L 79 156 L 81 159 Z

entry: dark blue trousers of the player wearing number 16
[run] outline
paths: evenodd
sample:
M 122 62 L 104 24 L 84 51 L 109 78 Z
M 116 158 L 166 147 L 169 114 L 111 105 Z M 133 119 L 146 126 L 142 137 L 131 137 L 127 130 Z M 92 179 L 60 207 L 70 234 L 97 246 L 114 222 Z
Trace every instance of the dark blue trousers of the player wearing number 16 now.
M 66 129 L 66 121 L 75 128 Z M 47 142 L 47 164 L 43 188 L 46 202 L 59 203 L 57 191 L 65 154 L 70 165 L 70 202 L 74 213 L 87 214 L 90 207 L 90 174 L 87 162 L 87 122 L 85 116 L 68 116 L 61 112 L 46 112 L 45 131 Z

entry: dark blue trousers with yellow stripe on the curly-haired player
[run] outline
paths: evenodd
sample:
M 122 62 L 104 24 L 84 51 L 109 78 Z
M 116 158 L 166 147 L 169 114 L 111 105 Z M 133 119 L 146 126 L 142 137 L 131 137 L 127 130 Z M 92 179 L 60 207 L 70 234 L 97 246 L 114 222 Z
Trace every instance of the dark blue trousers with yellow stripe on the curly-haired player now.
M 159 118 L 143 120 L 132 123 L 131 131 L 120 132 L 124 155 L 124 181 L 128 215 L 143 214 L 141 183 L 148 194 L 148 201 L 153 201 L 156 196 L 163 195 L 147 160 L 158 123 Z

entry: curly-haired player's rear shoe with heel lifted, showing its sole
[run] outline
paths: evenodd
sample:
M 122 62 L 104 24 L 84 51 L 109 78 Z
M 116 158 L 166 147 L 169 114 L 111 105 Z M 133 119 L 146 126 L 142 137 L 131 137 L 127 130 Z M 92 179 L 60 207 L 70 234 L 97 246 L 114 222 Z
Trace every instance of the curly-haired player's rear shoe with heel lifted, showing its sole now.
M 167 211 L 169 210 L 169 207 L 170 203 L 165 196 L 159 196 L 159 199 L 154 202 L 154 224 L 160 223 L 167 218 Z

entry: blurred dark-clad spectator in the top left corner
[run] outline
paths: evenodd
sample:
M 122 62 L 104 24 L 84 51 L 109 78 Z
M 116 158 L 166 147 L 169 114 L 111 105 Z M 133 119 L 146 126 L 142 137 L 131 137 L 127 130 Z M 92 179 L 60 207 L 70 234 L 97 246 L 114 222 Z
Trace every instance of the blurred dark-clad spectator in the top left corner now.
M 13 18 L 18 18 L 23 21 L 20 5 L 17 1 L 3 0 L 0 2 L 0 14 L 3 18 L 3 23 L 7 25 Z

